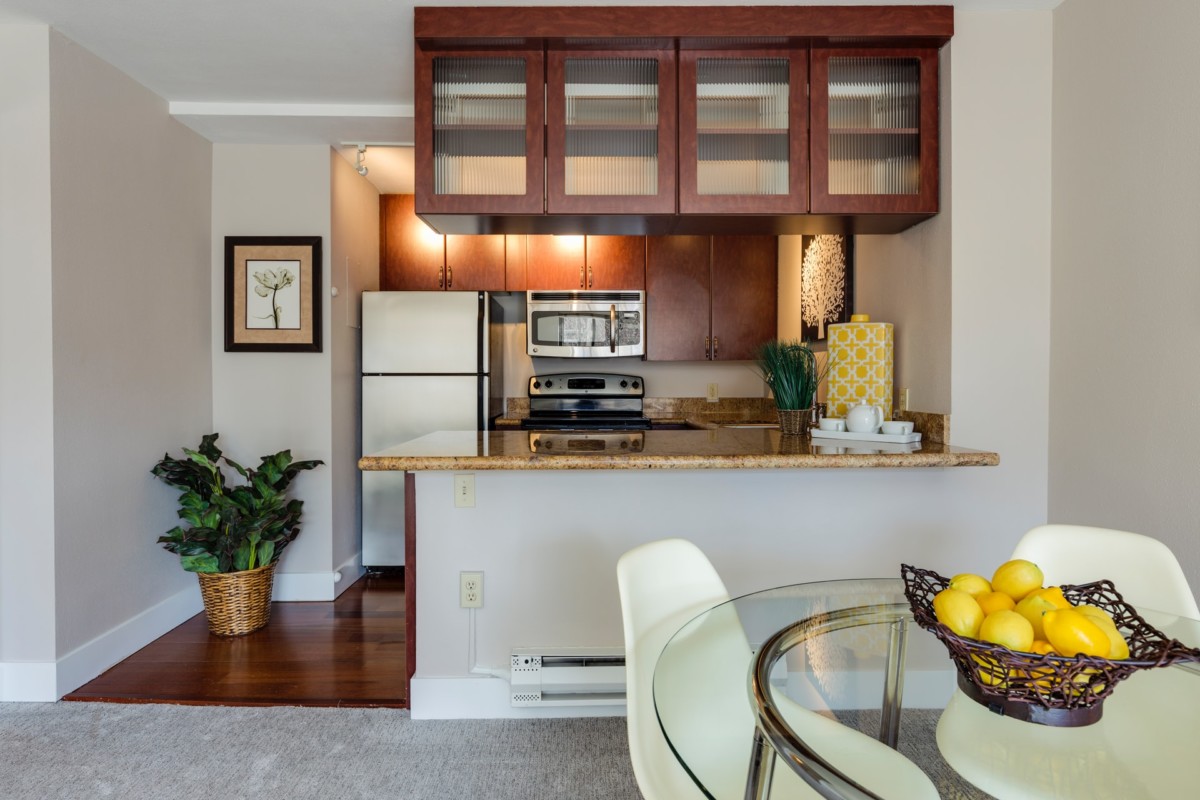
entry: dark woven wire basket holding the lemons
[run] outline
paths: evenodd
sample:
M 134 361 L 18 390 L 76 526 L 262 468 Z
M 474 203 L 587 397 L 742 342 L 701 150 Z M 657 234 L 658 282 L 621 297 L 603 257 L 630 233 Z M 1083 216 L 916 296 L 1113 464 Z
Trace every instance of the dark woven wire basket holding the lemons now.
M 1096 606 L 1112 615 L 1129 644 L 1129 657 L 1121 661 L 1018 652 L 959 636 L 934 614 L 934 596 L 949 585 L 949 579 L 907 564 L 900 565 L 900 575 L 913 619 L 946 645 L 958 670 L 959 688 L 1003 716 L 1057 727 L 1092 724 L 1103 714 L 1104 698 L 1135 672 L 1200 662 L 1200 650 L 1168 637 L 1142 619 L 1111 581 L 1067 584 L 1062 594 L 1073 606 Z

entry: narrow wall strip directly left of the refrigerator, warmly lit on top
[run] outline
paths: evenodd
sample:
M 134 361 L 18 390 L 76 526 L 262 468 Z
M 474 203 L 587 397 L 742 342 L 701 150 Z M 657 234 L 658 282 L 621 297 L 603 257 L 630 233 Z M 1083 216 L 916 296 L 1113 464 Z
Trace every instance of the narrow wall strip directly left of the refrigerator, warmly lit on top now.
M 337 566 L 347 561 L 361 564 L 359 309 L 362 291 L 379 288 L 379 192 L 334 151 L 330 151 L 330 180 L 334 236 L 329 246 L 329 277 L 337 289 L 337 296 L 329 300 L 334 453 L 330 470 L 334 481 L 332 564 Z M 337 590 L 349 587 L 353 578 L 353 575 L 343 575 Z

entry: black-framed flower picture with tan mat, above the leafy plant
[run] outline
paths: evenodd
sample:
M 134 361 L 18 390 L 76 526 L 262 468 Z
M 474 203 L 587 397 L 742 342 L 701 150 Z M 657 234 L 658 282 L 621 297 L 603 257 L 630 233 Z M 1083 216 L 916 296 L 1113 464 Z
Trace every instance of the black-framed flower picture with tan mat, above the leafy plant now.
M 226 353 L 320 353 L 320 236 L 224 237 Z

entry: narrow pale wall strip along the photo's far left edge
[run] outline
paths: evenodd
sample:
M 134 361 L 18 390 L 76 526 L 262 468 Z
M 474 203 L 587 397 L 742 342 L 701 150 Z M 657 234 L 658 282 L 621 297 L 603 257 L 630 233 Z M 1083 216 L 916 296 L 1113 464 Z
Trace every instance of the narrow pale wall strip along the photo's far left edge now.
M 49 29 L 0 25 L 0 699 L 53 696 Z

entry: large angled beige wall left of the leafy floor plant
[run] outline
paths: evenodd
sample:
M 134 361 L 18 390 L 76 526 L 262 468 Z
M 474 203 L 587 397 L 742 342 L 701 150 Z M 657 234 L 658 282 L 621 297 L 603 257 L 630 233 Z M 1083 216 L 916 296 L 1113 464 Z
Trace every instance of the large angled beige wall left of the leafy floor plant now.
M 211 145 L 114 67 L 50 44 L 62 654 L 194 581 L 154 541 L 178 519 L 148 470 L 211 421 Z

